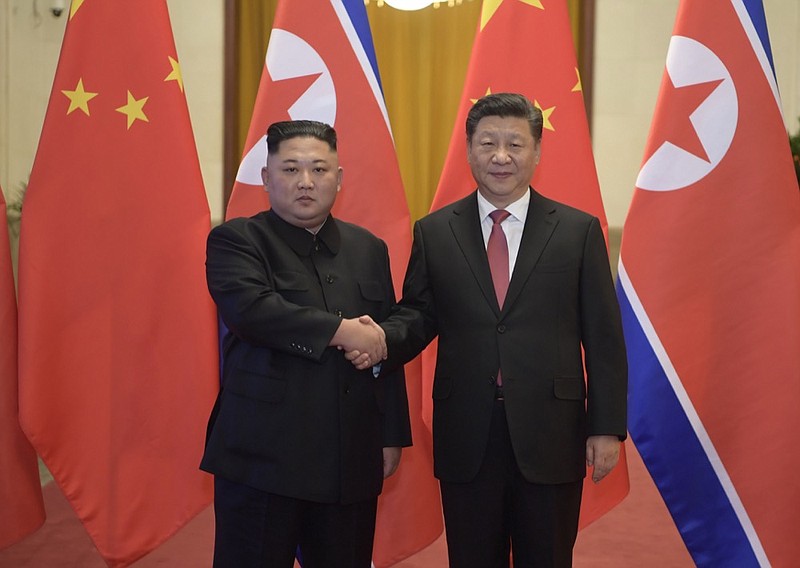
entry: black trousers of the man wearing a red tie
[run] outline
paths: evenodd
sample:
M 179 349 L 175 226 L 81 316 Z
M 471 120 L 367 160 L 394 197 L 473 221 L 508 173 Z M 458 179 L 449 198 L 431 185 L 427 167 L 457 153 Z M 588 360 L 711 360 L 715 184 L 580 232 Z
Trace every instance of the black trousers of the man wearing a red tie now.
M 569 568 L 583 481 L 529 483 L 519 471 L 503 401 L 476 478 L 441 482 L 450 568 Z

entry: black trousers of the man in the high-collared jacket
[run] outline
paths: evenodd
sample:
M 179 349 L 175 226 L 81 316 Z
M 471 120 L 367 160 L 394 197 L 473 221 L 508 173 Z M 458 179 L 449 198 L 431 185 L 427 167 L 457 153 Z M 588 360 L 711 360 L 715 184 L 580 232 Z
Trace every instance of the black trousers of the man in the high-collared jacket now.
M 369 568 L 378 498 L 315 503 L 214 479 L 214 568 Z

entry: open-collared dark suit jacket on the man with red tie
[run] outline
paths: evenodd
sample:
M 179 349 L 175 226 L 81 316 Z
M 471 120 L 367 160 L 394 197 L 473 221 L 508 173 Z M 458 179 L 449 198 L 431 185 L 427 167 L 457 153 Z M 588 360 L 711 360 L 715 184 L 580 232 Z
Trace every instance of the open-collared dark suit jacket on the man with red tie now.
M 501 311 L 473 192 L 417 222 L 403 299 L 383 325 L 387 369 L 439 336 L 433 438 L 435 473 L 444 481 L 470 481 L 478 472 L 498 368 L 528 481 L 577 481 L 586 472 L 587 436 L 626 435 L 627 361 L 595 217 L 531 190 Z

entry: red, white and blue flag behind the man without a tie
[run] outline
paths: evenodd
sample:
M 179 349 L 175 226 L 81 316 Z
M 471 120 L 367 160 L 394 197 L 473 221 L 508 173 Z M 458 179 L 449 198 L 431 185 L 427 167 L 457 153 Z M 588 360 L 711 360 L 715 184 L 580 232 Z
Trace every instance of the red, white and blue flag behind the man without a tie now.
M 272 122 L 290 118 L 336 128 L 344 179 L 333 214 L 386 241 L 400 290 L 411 249 L 410 220 L 362 0 L 278 4 L 228 218 L 269 207 L 261 183 L 265 133 Z M 442 532 L 419 377 L 418 361 L 406 366 L 414 446 L 403 451 L 379 500 L 374 551 L 379 568 L 411 556 Z

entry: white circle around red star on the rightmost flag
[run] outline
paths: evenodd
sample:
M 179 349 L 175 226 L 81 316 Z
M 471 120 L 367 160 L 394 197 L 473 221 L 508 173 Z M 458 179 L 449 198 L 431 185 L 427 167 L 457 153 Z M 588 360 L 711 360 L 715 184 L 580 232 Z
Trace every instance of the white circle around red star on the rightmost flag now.
M 688 37 L 672 36 L 666 67 L 676 88 L 722 82 L 689 116 L 709 161 L 665 141 L 645 162 L 636 179 L 637 188 L 650 191 L 682 189 L 712 172 L 730 148 L 739 118 L 733 79 L 708 47 Z

